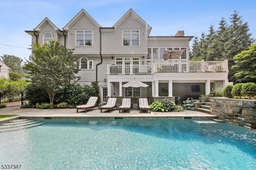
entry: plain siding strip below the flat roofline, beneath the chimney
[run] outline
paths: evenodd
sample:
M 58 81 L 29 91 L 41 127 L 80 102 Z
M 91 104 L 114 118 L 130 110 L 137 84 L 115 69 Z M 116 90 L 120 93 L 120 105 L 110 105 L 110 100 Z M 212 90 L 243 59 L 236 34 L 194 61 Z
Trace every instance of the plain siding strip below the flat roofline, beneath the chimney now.
M 148 40 L 148 47 L 189 46 L 188 40 Z

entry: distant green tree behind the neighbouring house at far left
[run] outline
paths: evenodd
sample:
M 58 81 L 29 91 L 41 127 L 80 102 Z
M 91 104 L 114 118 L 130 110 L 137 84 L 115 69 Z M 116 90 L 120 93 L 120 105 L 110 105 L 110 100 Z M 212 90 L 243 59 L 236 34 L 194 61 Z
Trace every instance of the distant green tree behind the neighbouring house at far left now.
M 10 69 L 12 69 L 14 73 L 19 73 L 19 74 L 23 73 L 23 69 L 22 69 L 23 60 L 21 58 L 16 57 L 14 55 L 6 55 L 6 54 L 0 57 L 2 58 L 2 61 L 4 61 L 4 63 L 8 65 L 8 67 L 10 67 Z

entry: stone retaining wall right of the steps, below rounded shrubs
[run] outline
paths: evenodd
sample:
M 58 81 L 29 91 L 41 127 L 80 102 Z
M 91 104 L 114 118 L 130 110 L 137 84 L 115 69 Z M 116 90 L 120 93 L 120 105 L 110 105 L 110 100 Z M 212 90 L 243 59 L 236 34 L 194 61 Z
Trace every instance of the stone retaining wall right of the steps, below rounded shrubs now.
M 256 129 L 256 100 L 210 97 L 211 114 Z

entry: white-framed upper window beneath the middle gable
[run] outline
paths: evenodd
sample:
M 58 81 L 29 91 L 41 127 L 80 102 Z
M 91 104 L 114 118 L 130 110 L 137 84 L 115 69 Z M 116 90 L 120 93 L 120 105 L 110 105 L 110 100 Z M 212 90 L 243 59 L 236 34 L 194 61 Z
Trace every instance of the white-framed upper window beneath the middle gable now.
M 77 30 L 76 45 L 92 45 L 92 30 Z

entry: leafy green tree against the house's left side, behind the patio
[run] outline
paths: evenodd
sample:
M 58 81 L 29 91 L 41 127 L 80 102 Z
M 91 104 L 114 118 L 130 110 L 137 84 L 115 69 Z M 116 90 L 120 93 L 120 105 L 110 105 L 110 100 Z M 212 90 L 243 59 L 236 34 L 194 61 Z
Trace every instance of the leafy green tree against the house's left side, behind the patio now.
M 77 58 L 72 55 L 73 51 L 54 40 L 44 45 L 35 43 L 33 62 L 24 65 L 31 82 L 46 91 L 50 103 L 54 102 L 55 95 L 67 87 L 70 81 L 78 79 L 75 76 L 79 71 L 76 68 Z

